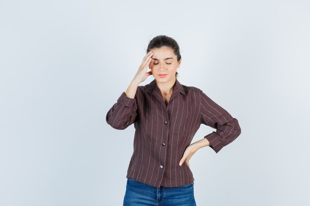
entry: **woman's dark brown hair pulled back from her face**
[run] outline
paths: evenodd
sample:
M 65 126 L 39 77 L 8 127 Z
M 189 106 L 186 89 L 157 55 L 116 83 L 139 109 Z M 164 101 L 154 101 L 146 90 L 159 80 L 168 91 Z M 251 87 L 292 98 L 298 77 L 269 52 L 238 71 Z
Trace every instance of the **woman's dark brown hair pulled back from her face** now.
M 173 53 L 177 56 L 178 62 L 181 59 L 180 47 L 179 44 L 172 39 L 171 37 L 167 37 L 165 35 L 159 35 L 154 37 L 148 45 L 147 53 L 153 48 L 160 48 L 161 46 L 170 47 L 173 50 Z M 177 78 L 178 73 L 175 73 L 175 77 Z

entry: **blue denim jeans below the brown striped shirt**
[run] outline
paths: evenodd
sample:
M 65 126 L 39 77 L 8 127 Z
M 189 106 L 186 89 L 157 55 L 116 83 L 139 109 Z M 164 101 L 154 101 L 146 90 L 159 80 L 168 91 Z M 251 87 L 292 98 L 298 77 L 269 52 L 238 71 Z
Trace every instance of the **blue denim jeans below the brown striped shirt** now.
M 180 187 L 153 187 L 127 178 L 123 206 L 196 206 L 194 182 Z

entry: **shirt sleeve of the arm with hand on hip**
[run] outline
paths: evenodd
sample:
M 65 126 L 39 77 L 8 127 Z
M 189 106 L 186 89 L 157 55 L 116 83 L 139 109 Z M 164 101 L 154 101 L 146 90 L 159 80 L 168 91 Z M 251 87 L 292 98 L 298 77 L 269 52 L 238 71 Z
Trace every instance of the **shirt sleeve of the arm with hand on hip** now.
M 241 134 L 240 125 L 236 118 L 212 101 L 203 91 L 200 92 L 200 100 L 201 123 L 216 129 L 205 138 L 210 142 L 209 146 L 218 153 Z

